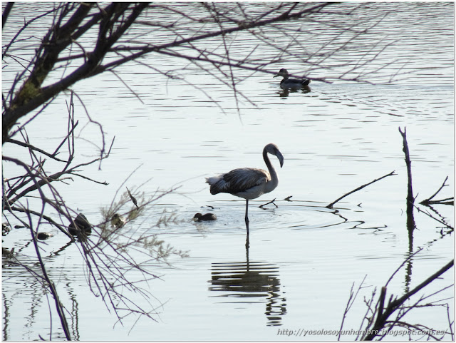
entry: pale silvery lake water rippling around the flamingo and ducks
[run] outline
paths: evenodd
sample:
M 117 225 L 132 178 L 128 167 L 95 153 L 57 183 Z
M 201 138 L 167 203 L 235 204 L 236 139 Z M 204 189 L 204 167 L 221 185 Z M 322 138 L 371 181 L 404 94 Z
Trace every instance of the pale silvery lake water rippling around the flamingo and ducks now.
M 11 14 L 3 43 L 15 34 L 15 25 L 24 16 L 35 13 L 36 7 L 30 6 Z M 261 5 L 256 6 L 261 10 Z M 79 245 L 68 244 L 66 236 L 48 227 L 54 237 L 40 243 L 41 254 L 66 307 L 73 339 L 334 340 L 335 334 L 321 330 L 340 329 L 353 282 L 356 290 L 366 277 L 345 319 L 343 327 L 348 330 L 360 328 L 366 314 L 364 298 L 369 299 L 375 287 L 377 297 L 411 252 L 421 249 L 390 282 L 388 296 L 413 289 L 453 258 L 452 230 L 431 217 L 416 211 L 413 240 L 408 235 L 407 171 L 398 128 L 407 128 L 416 203 L 435 193 L 446 176 L 449 186 L 437 198 L 453 196 L 454 4 L 374 3 L 366 4 L 358 15 L 366 20 L 385 16 L 357 46 L 328 59 L 327 65 L 323 61 L 329 69 L 286 61 L 269 70 L 288 68 L 312 78 L 340 75 L 340 68 L 353 66 L 360 56 L 371 53 L 369 44 L 382 41 L 387 46 L 372 66 L 366 66 L 370 72 L 364 77 L 375 84 L 314 81 L 309 93 L 286 94 L 278 78 L 255 73 L 238 85 L 248 101 L 241 98 L 236 103 L 233 92 L 209 73 L 163 56 L 150 56 L 143 62 L 160 71 L 174 70 L 183 80 L 167 79 L 135 63 L 118 70 L 143 103 L 112 74 L 76 84 L 73 89 L 88 113 L 103 125 L 107 140 L 115 136 L 115 143 L 101 170 L 98 165 L 84 170 L 85 175 L 109 185 L 77 178 L 59 185 L 67 205 L 98 223 L 100 208 L 108 207 L 125 185 L 136 194 L 180 186 L 123 230 L 133 235 L 157 234 L 173 247 L 188 251 L 189 257 L 172 256 L 170 265 L 150 265 L 160 279 L 143 285 L 153 296 L 145 306 L 156 312 L 156 321 L 132 315 L 120 324 L 101 297 L 90 292 Z M 336 23 L 338 16 L 334 14 L 333 20 Z M 341 38 L 336 36 L 336 27 L 317 22 L 302 25 L 298 37 L 306 40 L 306 53 L 316 53 Z M 271 30 L 273 35 L 277 32 Z M 157 35 L 154 39 L 160 39 L 160 32 Z M 233 53 L 252 49 L 254 44 L 252 37 L 239 34 Z M 257 53 L 269 61 L 271 47 L 261 45 Z M 2 73 L 4 91 L 18 68 L 9 63 Z M 250 74 L 237 73 L 239 77 Z M 66 128 L 68 99 L 68 94 L 58 96 L 28 126 L 35 145 L 52 149 L 61 140 L 59 128 Z M 79 102 L 76 117 L 80 121 L 78 160 L 83 161 L 98 153 L 94 144 L 99 146 L 101 140 L 98 127 L 88 123 Z M 250 248 L 246 250 L 244 200 L 229 194 L 210 195 L 204 177 L 240 167 L 265 168 L 261 150 L 267 143 L 279 146 L 284 166 L 279 168 L 276 158 L 271 158 L 279 169 L 279 186 L 250 202 Z M 9 144 L 3 153 L 24 154 Z M 349 195 L 332 210 L 326 208 L 341 195 L 393 170 L 396 175 Z M 13 172 L 4 163 L 4 177 Z M 290 201 L 285 200 L 289 196 Z M 277 207 L 258 207 L 274 198 Z M 432 215 L 454 225 L 453 206 L 435 205 L 434 210 Z M 177 221 L 157 227 L 163 211 L 174 213 Z M 197 212 L 215 213 L 218 219 L 193 222 Z M 13 229 L 2 238 L 3 247 L 14 248 L 19 260 L 38 267 L 33 265 L 28 230 Z M 52 297 L 35 278 L 5 257 L 2 277 L 4 340 L 65 338 Z M 142 277 L 130 275 L 132 282 Z M 415 301 L 453 282 L 450 270 L 418 293 Z M 415 309 L 405 319 L 448 329 L 447 309 L 441 304 L 450 304 L 450 320 L 454 320 L 453 295 L 450 287 L 432 297 L 439 306 Z M 128 296 L 142 301 L 140 295 Z M 317 333 L 304 336 L 302 330 Z M 293 335 L 288 336 L 289 332 Z M 341 339 L 355 337 L 347 334 Z M 408 336 L 388 339 L 408 340 Z

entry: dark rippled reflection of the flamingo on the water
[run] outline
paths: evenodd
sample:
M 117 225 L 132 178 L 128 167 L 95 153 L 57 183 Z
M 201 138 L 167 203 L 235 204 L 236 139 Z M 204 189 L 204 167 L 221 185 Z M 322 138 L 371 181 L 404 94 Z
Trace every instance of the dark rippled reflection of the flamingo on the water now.
M 266 262 L 212 263 L 209 290 L 239 302 L 266 302 L 267 326 L 281 325 L 286 298 L 280 290 L 279 267 Z M 233 300 L 236 302 L 236 300 Z

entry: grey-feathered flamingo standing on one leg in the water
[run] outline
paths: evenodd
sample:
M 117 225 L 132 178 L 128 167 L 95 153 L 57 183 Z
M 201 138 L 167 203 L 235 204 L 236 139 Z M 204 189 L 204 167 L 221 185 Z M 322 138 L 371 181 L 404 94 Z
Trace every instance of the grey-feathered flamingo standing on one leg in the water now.
M 206 178 L 210 185 L 212 195 L 218 193 L 229 193 L 245 199 L 245 225 L 247 227 L 247 242 L 249 240 L 249 200 L 256 199 L 260 195 L 269 193 L 279 185 L 279 177 L 269 160 L 268 153 L 279 159 L 280 167 L 284 165 L 284 156 L 277 148 L 277 145 L 269 143 L 263 149 L 264 163 L 269 170 L 257 168 L 238 168 L 228 173 Z

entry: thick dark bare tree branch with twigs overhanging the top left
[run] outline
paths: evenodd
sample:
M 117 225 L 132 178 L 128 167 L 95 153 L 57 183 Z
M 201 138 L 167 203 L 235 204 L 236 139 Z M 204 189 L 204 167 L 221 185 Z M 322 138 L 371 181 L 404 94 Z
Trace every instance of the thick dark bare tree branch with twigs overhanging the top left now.
M 187 61 L 210 63 L 211 66 L 218 69 L 223 78 L 229 80 L 224 81 L 224 83 L 232 89 L 234 98 L 238 102 L 238 95 L 241 95 L 241 93 L 237 90 L 235 69 L 272 73 L 272 71 L 265 68 L 266 65 L 279 63 L 290 57 L 298 58 L 308 66 L 324 68 L 322 63 L 331 54 L 345 51 L 346 44 L 366 34 L 368 29 L 377 25 L 384 17 L 380 16 L 378 19 L 373 20 L 367 29 L 366 27 L 363 27 L 363 29 L 360 27 L 358 29 L 358 24 L 336 25 L 341 30 L 341 34 L 342 32 L 351 33 L 351 38 L 348 38 L 345 44 L 323 53 L 323 59 L 320 61 L 314 61 L 313 57 L 318 56 L 318 52 L 306 58 L 293 51 L 298 46 L 305 48 L 302 46 L 301 40 L 297 39 L 300 31 L 296 31 L 296 37 L 294 37 L 293 34 L 289 35 L 289 32 L 293 31 L 293 29 L 286 31 L 280 24 L 286 21 L 305 19 L 309 21 L 321 21 L 331 26 L 333 24 L 325 22 L 321 18 L 324 16 L 323 9 L 326 9 L 328 6 L 337 6 L 335 3 L 274 4 L 273 6 L 269 6 L 269 9 L 264 11 L 264 13 L 260 14 L 257 12 L 250 14 L 246 6 L 239 4 L 197 4 L 195 6 L 201 6 L 205 9 L 207 16 L 201 16 L 200 14 L 201 17 L 195 17 L 172 6 L 147 3 L 113 3 L 104 7 L 99 4 L 95 6 L 94 3 L 67 3 L 59 4 L 53 10 L 41 14 L 40 16 L 55 14 L 55 19 L 51 28 L 43 37 L 41 44 L 36 49 L 36 56 L 24 68 L 24 72 L 16 77 L 8 96 L 4 96 L 2 143 L 5 143 L 7 138 L 11 137 L 11 129 L 20 118 L 39 106 L 52 101 L 61 91 L 68 89 L 84 78 L 93 77 L 105 71 L 113 71 L 114 68 L 129 61 L 138 60 L 147 54 L 165 54 L 167 56 L 186 59 Z M 182 24 L 179 19 L 175 22 L 166 23 L 151 20 L 155 11 L 164 10 L 180 16 L 182 18 Z M 350 16 L 351 12 L 343 13 L 341 11 L 339 15 Z M 38 19 L 40 16 L 37 16 L 33 20 Z M 28 21 L 14 39 L 11 40 L 9 45 L 4 48 L 4 57 L 6 56 L 6 51 L 9 50 L 9 46 L 12 46 L 18 40 L 19 34 L 22 34 L 26 26 L 30 23 L 31 21 Z M 133 34 L 134 36 L 129 36 L 128 40 L 122 41 L 121 39 L 123 39 L 123 36 L 127 34 L 127 31 L 133 24 L 135 26 L 158 26 L 167 31 L 169 36 L 175 39 L 170 39 L 170 41 L 165 43 L 160 41 L 153 42 L 149 39 L 140 40 L 139 38 L 146 34 L 144 31 L 141 31 L 140 34 Z M 218 29 L 207 31 L 203 29 L 204 24 L 215 24 Z M 185 29 L 186 25 L 189 26 L 189 29 Z M 291 37 L 291 40 L 286 40 L 289 41 L 288 46 L 273 43 L 267 37 L 267 34 L 264 34 L 262 31 L 266 27 L 274 28 L 285 36 Z M 95 46 L 84 46 L 83 43 L 78 42 L 78 39 L 81 39 L 90 29 L 95 28 L 98 28 Z M 190 34 L 191 32 L 193 33 Z M 271 61 L 267 62 L 257 61 L 257 59 L 253 58 L 254 51 L 244 54 L 242 57 L 234 56 L 231 52 L 233 41 L 229 41 L 229 36 L 238 32 L 247 32 L 255 39 L 274 46 L 277 55 L 275 57 L 273 56 Z M 221 40 L 223 46 L 222 54 L 217 52 L 217 48 L 208 51 L 207 48 L 197 46 L 199 42 L 217 37 Z M 379 41 L 371 48 L 371 51 L 365 53 L 365 56 L 361 58 L 363 61 L 358 61 L 354 66 L 349 66 L 338 77 L 366 82 L 365 79 L 361 80 L 361 74 L 359 76 L 353 76 L 353 73 L 366 68 L 390 44 L 391 42 L 388 41 Z M 288 49 L 289 47 L 291 48 L 291 45 L 294 48 Z M 331 41 L 323 44 L 323 46 L 329 45 L 331 45 Z M 78 52 L 73 53 L 72 46 L 76 46 Z M 182 49 L 188 49 L 188 53 L 183 52 L 184 50 Z M 69 51 L 68 55 L 61 56 L 63 51 Z M 120 57 L 110 58 L 109 61 L 103 63 L 108 53 L 110 56 L 113 53 L 117 53 Z M 48 78 L 48 74 L 55 68 L 61 66 L 65 66 L 66 68 L 67 65 L 61 64 L 65 62 L 74 62 L 75 64 L 71 64 L 71 66 L 76 68 L 73 68 L 73 71 L 68 75 L 63 75 L 60 80 L 43 87 L 43 82 Z M 229 71 L 223 71 L 222 66 L 227 66 Z M 378 66 L 376 71 L 384 67 Z M 26 76 L 26 71 L 28 71 L 28 76 Z M 369 73 L 375 73 L 375 70 L 363 71 L 365 76 Z M 118 77 L 118 74 L 115 75 Z M 327 78 L 311 79 L 328 82 Z M 19 91 L 14 92 L 13 89 L 19 83 L 22 83 Z

